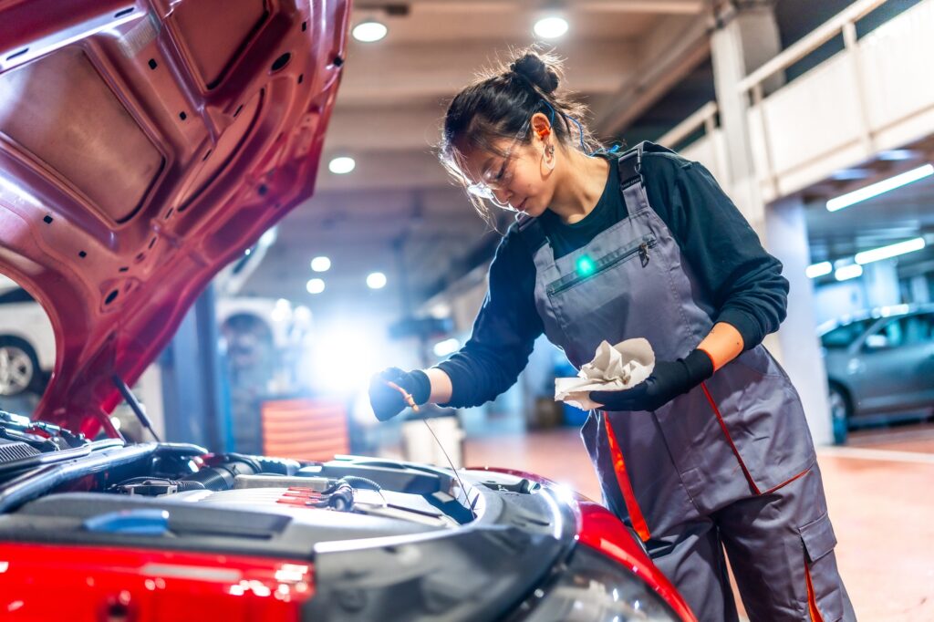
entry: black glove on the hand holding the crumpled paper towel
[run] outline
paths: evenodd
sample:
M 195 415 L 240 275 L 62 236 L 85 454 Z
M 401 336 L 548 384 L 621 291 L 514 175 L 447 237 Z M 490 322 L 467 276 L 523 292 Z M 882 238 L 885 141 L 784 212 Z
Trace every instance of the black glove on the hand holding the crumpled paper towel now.
M 590 399 L 603 404 L 601 410 L 657 410 L 712 375 L 714 361 L 703 350 L 693 350 L 684 359 L 656 361 L 652 375 L 632 389 L 590 391 Z

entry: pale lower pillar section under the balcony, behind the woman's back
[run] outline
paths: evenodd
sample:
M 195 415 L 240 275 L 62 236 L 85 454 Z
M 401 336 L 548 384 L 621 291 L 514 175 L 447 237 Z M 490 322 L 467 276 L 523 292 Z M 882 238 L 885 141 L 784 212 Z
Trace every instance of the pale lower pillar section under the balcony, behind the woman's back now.
M 790 284 L 788 317 L 773 338 L 783 354 L 782 366 L 804 404 L 814 443 L 829 445 L 832 432 L 827 371 L 815 333 L 814 284 L 804 274 L 811 263 L 804 205 L 799 199 L 785 199 L 770 205 L 766 228 L 771 240 L 769 250 L 785 265 L 782 274 Z

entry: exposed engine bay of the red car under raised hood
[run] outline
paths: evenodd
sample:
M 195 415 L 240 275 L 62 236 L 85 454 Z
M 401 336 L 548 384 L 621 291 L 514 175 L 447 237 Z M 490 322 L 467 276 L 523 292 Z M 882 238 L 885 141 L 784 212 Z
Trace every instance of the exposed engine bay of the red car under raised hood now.
M 456 529 L 486 507 L 480 488 L 529 493 L 537 486 L 502 476 L 487 485 L 383 459 L 300 462 L 209 454 L 197 445 L 89 441 L 0 412 L 0 539 L 142 537 L 179 549 L 310 556 L 325 542 Z

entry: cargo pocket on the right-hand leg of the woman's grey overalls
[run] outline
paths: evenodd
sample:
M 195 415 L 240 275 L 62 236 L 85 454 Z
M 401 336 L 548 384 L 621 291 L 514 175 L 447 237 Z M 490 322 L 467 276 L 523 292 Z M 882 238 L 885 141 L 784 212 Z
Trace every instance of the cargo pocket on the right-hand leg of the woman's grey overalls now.
M 830 525 L 830 517 L 823 514 L 798 530 L 807 582 L 804 610 L 810 613 L 814 622 L 836 622 L 843 617 L 843 594 L 837 557 L 833 552 L 837 537 Z

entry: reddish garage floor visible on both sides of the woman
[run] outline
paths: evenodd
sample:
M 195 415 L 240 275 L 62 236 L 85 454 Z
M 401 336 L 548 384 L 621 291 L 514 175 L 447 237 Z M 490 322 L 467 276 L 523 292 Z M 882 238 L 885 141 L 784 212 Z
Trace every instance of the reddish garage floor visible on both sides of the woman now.
M 600 489 L 577 431 L 467 442 L 466 463 L 542 474 L 593 499 Z M 934 426 L 860 431 L 818 449 L 841 573 L 861 620 L 934 620 Z

